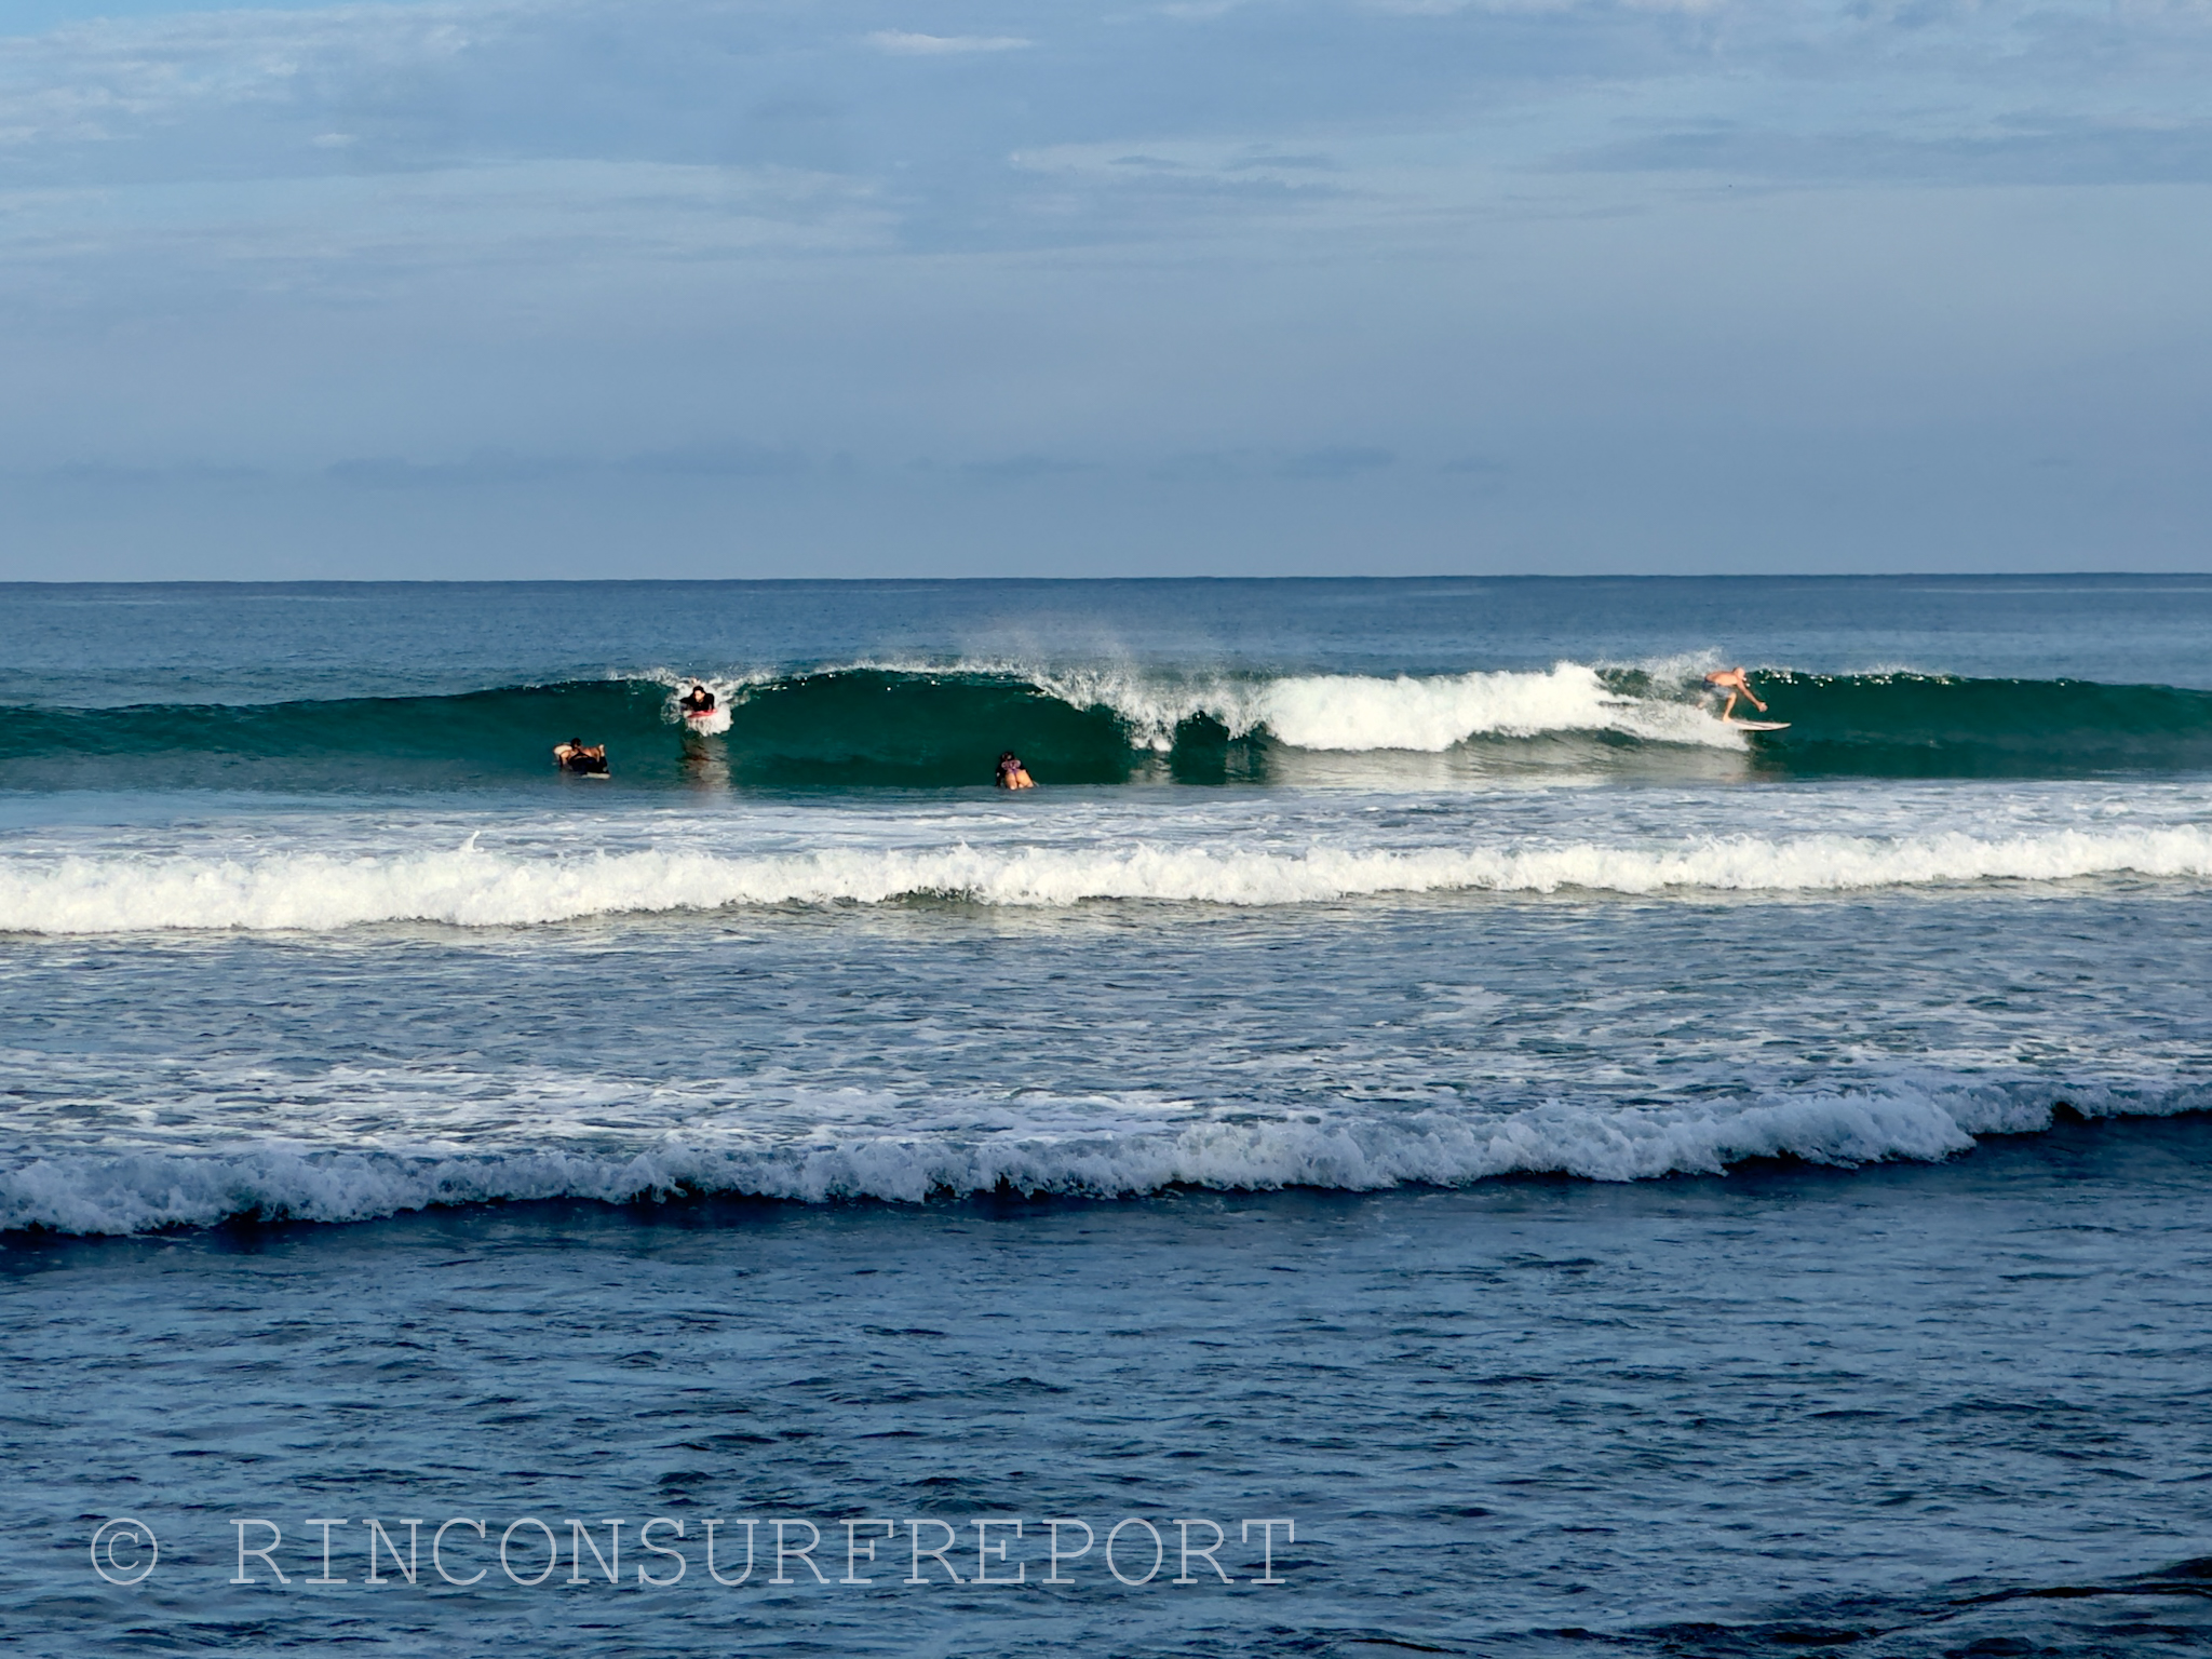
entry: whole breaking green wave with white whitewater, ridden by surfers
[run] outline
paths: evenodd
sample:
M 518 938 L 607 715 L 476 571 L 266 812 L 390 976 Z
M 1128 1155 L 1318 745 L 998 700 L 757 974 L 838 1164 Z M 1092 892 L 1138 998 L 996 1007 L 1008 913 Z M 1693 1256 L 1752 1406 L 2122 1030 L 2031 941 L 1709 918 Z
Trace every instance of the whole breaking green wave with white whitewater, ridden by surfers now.
M 845 666 L 719 679 L 703 741 L 757 787 L 947 787 L 1018 750 L 1051 783 L 1267 781 L 1298 754 L 1666 763 L 1763 776 L 2033 779 L 2212 765 L 2212 692 L 2086 681 L 1759 672 L 1787 732 L 1721 726 L 1694 675 L 1559 664 L 1444 677 Z M 447 697 L 0 710 L 0 787 L 447 787 L 546 774 L 562 737 L 628 785 L 681 779 L 668 675 Z

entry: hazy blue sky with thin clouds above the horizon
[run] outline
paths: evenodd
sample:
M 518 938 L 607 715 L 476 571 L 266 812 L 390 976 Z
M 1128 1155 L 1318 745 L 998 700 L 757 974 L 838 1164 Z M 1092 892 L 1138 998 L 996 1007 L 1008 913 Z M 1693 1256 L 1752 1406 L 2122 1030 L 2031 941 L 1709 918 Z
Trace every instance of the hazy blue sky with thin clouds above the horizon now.
M 2212 0 L 0 0 L 0 580 L 2212 568 Z

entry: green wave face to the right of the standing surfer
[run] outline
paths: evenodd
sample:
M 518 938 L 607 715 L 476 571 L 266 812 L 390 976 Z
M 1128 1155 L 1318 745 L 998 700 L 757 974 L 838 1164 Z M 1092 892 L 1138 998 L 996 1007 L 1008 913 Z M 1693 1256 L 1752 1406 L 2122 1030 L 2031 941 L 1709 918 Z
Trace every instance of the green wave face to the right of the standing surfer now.
M 2212 692 L 2077 679 L 1754 675 L 1756 765 L 1792 776 L 2088 776 L 2212 770 Z M 1739 714 L 1750 710 L 1739 708 Z

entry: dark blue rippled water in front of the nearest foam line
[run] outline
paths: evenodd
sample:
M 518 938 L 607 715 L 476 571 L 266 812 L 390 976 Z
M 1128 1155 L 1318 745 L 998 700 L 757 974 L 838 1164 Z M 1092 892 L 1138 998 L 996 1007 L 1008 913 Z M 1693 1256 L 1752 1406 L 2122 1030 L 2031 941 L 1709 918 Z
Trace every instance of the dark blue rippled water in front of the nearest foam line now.
M 2201 1126 L 2170 1124 L 1858 1175 L 33 1245 L 0 1290 L 9 1628 L 60 1652 L 124 1626 L 150 1650 L 2197 1652 L 2203 1181 Z M 168 1571 L 86 1590 L 80 1517 L 124 1500 Z M 586 1584 L 522 1588 L 460 1533 L 442 1559 L 487 1584 L 387 1559 L 372 1588 L 369 1515 L 400 1540 L 575 1515 L 602 1548 L 666 1515 L 690 1555 L 670 1588 L 615 1590 L 588 1553 Z M 816 1517 L 834 1582 L 706 1582 L 703 1520 L 743 1515 Z M 836 1582 L 832 1517 L 876 1515 L 969 1544 L 1026 1517 L 1031 1579 L 1048 1515 L 1150 1517 L 1164 1579 L 1175 1517 L 1301 1531 L 1267 1588 L 1245 1548 L 1234 1586 L 1091 1559 L 918 1588 L 905 1553 Z M 290 1588 L 259 1562 L 228 1584 L 232 1517 L 285 1526 Z M 349 1584 L 301 1584 L 305 1517 L 349 1517 Z

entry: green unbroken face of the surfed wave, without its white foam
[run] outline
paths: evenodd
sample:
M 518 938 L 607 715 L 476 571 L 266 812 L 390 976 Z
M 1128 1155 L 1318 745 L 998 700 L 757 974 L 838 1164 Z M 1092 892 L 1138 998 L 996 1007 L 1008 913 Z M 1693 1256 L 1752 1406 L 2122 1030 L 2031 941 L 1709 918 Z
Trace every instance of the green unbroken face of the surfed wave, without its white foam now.
M 1683 701 L 1677 684 L 1608 672 L 1613 692 Z M 2212 770 L 2212 692 L 2086 681 L 1823 677 L 1754 672 L 1770 719 L 1747 752 L 1639 741 L 1617 730 L 1471 737 L 1422 757 L 1418 776 L 1511 765 L 1635 765 L 1717 776 L 2088 776 Z M 119 710 L 7 710 L 7 787 L 389 790 L 564 785 L 551 748 L 606 743 L 619 785 L 717 781 L 739 787 L 984 787 L 1002 750 L 1044 783 L 1113 785 L 1296 781 L 1327 770 L 1400 781 L 1389 750 L 1312 754 L 1265 726 L 1232 734 L 1206 712 L 1172 726 L 1166 752 L 1115 708 L 1077 706 L 989 672 L 827 670 L 748 686 L 730 730 L 699 737 L 657 681 L 611 679 L 456 697 Z M 1750 712 L 1750 710 L 1743 710 Z

